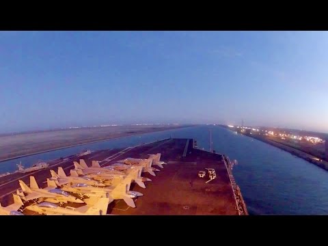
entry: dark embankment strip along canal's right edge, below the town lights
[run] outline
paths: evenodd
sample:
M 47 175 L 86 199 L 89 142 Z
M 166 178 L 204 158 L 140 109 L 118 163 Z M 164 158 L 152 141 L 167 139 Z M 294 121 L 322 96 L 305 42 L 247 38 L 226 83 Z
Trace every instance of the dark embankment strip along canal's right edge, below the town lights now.
M 228 127 L 225 127 L 225 126 L 223 126 L 223 127 L 224 128 L 227 128 L 230 131 L 235 131 L 235 130 L 232 130 L 231 128 L 228 128 Z M 267 144 L 269 144 L 271 146 L 274 146 L 276 148 L 279 148 L 280 150 L 284 150 L 284 151 L 286 151 L 286 152 L 288 152 L 288 153 L 290 153 L 290 154 L 292 154 L 294 156 L 297 156 L 297 157 L 303 159 L 304 161 L 308 161 L 309 163 L 312 163 L 312 164 L 314 164 L 314 165 L 316 165 L 318 167 L 321 167 L 321 168 L 325 169 L 326 171 L 328 171 L 328 162 L 327 161 L 324 161 L 322 159 L 321 159 L 321 161 L 316 161 L 314 158 L 320 159 L 317 156 L 313 156 L 312 154 L 305 153 L 305 152 L 303 152 L 301 150 L 297 150 L 296 148 L 292 148 L 290 146 L 286 146 L 283 143 L 277 143 L 275 141 L 272 141 L 270 139 L 266 139 L 264 137 L 256 137 L 256 136 L 245 134 L 245 133 L 241 133 L 241 132 L 238 132 L 238 133 L 240 133 L 242 135 L 245 135 L 247 137 L 251 137 L 253 139 L 257 139 L 257 140 L 262 141 L 264 143 L 267 143 Z

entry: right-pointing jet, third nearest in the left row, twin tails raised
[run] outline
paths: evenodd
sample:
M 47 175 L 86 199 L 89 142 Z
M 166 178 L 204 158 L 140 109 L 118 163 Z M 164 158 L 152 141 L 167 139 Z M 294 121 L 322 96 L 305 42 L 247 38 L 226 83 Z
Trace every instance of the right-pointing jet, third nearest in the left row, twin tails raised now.
M 79 177 L 79 176 L 66 176 L 64 169 L 62 167 L 58 167 L 58 174 L 56 174 L 55 171 L 50 170 L 51 176 L 53 179 L 56 179 L 59 183 L 61 184 L 78 184 L 78 183 L 85 183 L 85 184 L 90 184 L 94 186 L 99 186 L 99 187 L 104 187 L 105 184 L 102 184 L 101 182 L 98 182 L 97 180 L 93 180 L 92 178 L 88 177 Z

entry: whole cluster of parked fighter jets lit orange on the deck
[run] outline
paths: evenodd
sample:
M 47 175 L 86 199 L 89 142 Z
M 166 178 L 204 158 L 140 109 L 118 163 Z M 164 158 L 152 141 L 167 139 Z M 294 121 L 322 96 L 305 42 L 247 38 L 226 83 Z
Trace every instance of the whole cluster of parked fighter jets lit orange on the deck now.
M 23 215 L 20 208 L 29 201 L 33 203 L 25 206 L 24 210 L 42 215 L 106 215 L 107 206 L 113 200 L 124 200 L 128 206 L 135 208 L 133 198 L 143 194 L 130 191 L 131 182 L 146 188 L 144 182 L 152 180 L 142 177 L 141 173 L 156 176 L 154 172 L 159 169 L 152 165 L 163 168 L 166 164 L 160 159 L 161 153 L 150 154 L 148 159 L 128 158 L 106 167 L 101 167 L 98 161 L 92 161 L 89 167 L 80 159 L 79 163 L 73 162 L 70 176 L 66 176 L 62 167 L 58 167 L 57 173 L 50 170 L 51 178 L 46 179 L 47 187 L 44 189 L 39 187 L 34 176 L 29 176 L 29 186 L 18 180 L 21 190 L 13 194 L 14 204 L 6 207 L 0 204 L 0 215 Z M 68 202 L 86 205 L 79 208 L 61 206 Z

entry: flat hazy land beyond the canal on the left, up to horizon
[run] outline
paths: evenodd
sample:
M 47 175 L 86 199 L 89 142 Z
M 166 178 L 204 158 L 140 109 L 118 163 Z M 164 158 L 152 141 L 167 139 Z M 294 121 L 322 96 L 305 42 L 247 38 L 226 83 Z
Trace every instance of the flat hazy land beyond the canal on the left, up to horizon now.
M 20 133 L 0 136 L 0 161 L 19 156 L 46 152 L 83 143 L 126 137 L 140 133 L 164 131 L 187 125 L 139 125 L 73 128 L 39 133 Z

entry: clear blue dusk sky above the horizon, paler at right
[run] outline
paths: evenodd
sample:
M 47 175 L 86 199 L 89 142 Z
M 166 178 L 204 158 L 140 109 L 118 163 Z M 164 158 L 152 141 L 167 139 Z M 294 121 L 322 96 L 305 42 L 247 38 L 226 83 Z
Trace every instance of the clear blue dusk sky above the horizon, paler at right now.
M 0 133 L 242 119 L 328 133 L 327 77 L 327 31 L 0 31 Z

